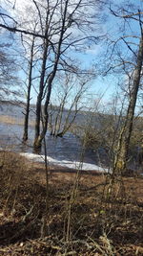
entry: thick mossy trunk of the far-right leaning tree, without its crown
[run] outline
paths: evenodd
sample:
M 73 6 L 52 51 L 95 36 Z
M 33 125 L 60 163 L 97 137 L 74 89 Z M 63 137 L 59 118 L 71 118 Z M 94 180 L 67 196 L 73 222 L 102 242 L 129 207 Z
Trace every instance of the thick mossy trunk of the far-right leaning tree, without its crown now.
M 138 55 L 136 59 L 136 67 L 134 70 L 133 88 L 130 95 L 130 102 L 128 106 L 127 115 L 125 118 L 125 124 L 124 124 L 124 127 L 121 129 L 121 132 L 119 135 L 116 155 L 114 158 L 114 163 L 113 163 L 114 174 L 124 173 L 127 168 L 129 145 L 130 145 L 130 139 L 131 139 L 132 129 L 133 129 L 134 109 L 136 105 L 137 93 L 138 93 L 139 84 L 140 84 L 142 64 L 143 64 L 143 35 L 141 36 L 141 39 L 140 39 L 139 50 L 138 50 Z

